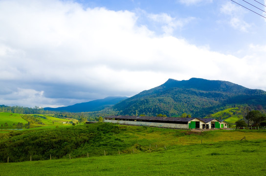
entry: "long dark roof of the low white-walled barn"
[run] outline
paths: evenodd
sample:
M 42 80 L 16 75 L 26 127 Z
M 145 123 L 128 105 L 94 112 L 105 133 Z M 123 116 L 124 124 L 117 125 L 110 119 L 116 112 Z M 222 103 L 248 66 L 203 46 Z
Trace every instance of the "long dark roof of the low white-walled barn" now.
M 119 115 L 119 116 L 108 116 L 105 118 L 115 118 L 115 119 L 131 119 L 131 120 L 147 120 L 147 121 L 171 121 L 171 122 L 189 122 L 193 119 L 199 118 L 181 118 L 181 117 L 150 117 L 150 116 L 127 116 L 127 115 Z M 201 119 L 199 119 L 201 120 Z M 201 120 L 202 121 L 202 120 Z

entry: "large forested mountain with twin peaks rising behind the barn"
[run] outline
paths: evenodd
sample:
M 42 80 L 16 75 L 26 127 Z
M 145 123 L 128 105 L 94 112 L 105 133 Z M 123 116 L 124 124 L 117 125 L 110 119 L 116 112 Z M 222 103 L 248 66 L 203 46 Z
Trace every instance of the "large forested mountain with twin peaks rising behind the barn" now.
M 155 116 L 161 113 L 181 116 L 182 113 L 187 113 L 194 117 L 205 117 L 236 104 L 266 109 L 266 91 L 244 88 L 227 81 L 169 79 L 161 86 L 121 101 L 113 109 L 121 111 L 121 115 Z

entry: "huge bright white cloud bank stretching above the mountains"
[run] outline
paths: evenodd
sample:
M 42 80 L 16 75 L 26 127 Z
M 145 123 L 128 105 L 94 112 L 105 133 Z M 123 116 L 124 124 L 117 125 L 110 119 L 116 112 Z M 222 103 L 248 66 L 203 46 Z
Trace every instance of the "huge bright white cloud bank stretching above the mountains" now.
M 169 35 L 139 25 L 136 13 L 72 1 L 0 0 L 0 17 L 0 103 L 6 105 L 56 107 L 132 96 L 168 78 L 250 86 L 246 80 L 266 64 L 258 59 L 250 67 L 253 56 L 237 58 L 171 36 L 191 19 L 167 14 L 150 19 Z

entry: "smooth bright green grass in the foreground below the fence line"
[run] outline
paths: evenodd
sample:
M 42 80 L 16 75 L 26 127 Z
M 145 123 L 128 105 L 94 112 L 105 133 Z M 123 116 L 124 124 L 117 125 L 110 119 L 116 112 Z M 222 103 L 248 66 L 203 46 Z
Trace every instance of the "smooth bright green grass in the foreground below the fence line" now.
M 1 176 L 263 176 L 266 140 L 173 146 L 159 152 L 1 163 Z

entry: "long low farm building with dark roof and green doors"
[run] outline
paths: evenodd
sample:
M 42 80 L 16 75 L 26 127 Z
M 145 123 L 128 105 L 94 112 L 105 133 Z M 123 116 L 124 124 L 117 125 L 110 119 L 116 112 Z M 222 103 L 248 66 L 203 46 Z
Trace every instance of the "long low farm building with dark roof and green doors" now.
M 203 118 L 179 118 L 179 117 L 147 117 L 147 116 L 108 116 L 105 122 L 124 125 L 139 125 L 149 127 L 162 127 L 173 129 L 209 129 L 221 128 L 221 122 L 217 119 Z M 225 127 L 222 125 L 222 127 Z

